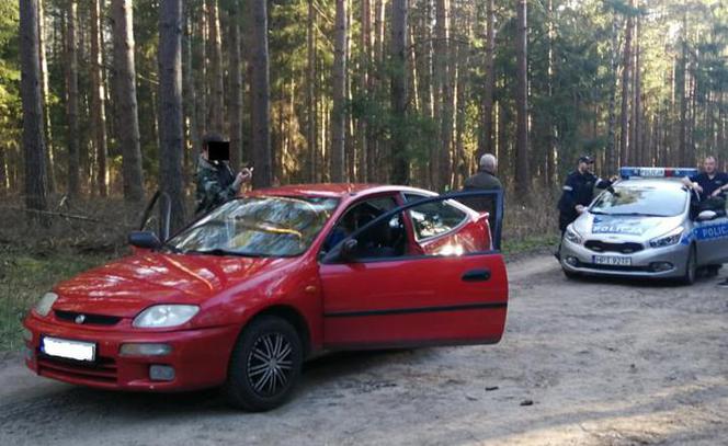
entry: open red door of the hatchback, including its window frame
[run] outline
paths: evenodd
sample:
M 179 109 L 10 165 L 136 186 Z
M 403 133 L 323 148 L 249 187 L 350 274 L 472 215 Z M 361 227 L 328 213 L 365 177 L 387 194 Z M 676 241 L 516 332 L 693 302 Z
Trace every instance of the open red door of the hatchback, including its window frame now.
M 333 247 L 319 268 L 325 346 L 498 342 L 508 307 L 500 242 L 491 240 L 484 215 L 455 202 L 479 194 L 496 194 L 502 208 L 502 195 L 493 192 L 412 201 Z M 406 225 L 414 244 L 393 249 L 388 235 L 400 230 L 403 221 L 416 221 Z M 500 226 L 502 215 L 496 221 Z M 493 233 L 500 233 L 500 228 Z M 428 249 L 432 245 L 437 249 Z

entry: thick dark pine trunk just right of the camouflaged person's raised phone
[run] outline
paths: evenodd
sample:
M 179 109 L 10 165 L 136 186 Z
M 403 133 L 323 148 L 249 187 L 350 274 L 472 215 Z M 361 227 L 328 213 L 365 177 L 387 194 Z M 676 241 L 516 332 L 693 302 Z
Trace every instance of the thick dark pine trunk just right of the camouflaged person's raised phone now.
M 250 48 L 252 152 L 255 167 L 253 186 L 266 187 L 273 183 L 266 0 L 250 0 L 250 10 L 252 13 Z

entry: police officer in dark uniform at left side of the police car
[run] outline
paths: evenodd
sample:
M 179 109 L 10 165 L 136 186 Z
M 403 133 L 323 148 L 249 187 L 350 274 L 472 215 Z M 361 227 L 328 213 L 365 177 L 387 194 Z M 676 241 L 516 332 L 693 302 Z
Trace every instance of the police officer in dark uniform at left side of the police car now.
M 612 180 L 602 180 L 591 172 L 594 160 L 591 157 L 582 156 L 579 158 L 579 165 L 566 179 L 559 199 L 559 229 L 561 236 L 566 227 L 584 211 L 594 197 L 594 187 L 606 188 L 612 185 L 616 178 Z

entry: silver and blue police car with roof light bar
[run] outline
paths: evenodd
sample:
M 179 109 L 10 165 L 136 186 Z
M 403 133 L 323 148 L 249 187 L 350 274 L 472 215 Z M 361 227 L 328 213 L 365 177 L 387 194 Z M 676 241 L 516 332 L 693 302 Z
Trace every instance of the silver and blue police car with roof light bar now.
M 725 203 L 705 209 L 681 181 L 695 169 L 622 168 L 569 225 L 560 248 L 568 277 L 578 275 L 695 281 L 701 268 L 728 262 Z

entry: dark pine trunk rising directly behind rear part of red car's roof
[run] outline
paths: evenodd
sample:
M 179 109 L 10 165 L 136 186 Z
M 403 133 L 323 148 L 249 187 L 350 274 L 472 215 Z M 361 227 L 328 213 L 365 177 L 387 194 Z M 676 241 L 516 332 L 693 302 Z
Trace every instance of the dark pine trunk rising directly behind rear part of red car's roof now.
M 409 183 L 407 122 L 407 0 L 391 2 L 391 112 L 397 127 L 391 139 L 391 181 Z

